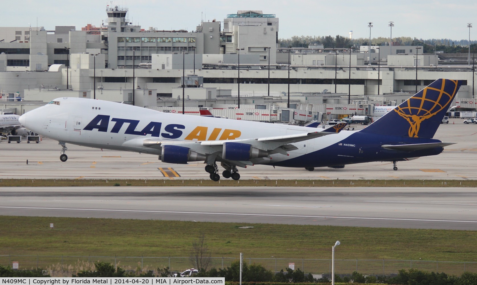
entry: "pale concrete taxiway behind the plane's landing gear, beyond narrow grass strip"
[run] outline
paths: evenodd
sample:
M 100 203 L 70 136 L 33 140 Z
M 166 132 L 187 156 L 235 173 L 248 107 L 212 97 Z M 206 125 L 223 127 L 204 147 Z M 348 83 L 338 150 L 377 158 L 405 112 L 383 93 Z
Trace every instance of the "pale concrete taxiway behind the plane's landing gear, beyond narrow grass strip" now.
M 397 171 L 391 162 L 370 162 L 312 172 L 256 165 L 240 168 L 239 172 L 241 179 L 477 179 L 476 134 L 477 125 L 451 119 L 448 125 L 439 127 L 435 137 L 457 144 L 437 156 L 398 162 Z M 67 147 L 68 160 L 61 162 L 57 141 L 45 138 L 39 144 L 2 142 L 0 179 L 208 179 L 203 163 L 167 164 L 152 155 L 71 144 Z

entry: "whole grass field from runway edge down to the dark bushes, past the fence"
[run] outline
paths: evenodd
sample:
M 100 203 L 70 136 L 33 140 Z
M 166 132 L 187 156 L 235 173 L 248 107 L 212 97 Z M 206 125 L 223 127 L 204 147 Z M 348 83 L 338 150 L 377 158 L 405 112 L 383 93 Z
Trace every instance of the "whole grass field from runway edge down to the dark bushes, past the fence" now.
M 19 261 L 20 268 L 40 267 L 53 276 L 91 269 L 97 260 L 126 270 L 183 271 L 195 267 L 189 256 L 202 235 L 216 257 L 210 267 L 216 268 L 244 253 L 245 262 L 272 271 L 293 262 L 305 272 L 329 273 L 331 248 L 340 240 L 335 264 L 341 274 L 390 274 L 410 267 L 477 272 L 475 231 L 10 216 L 0 216 L 0 224 L 0 264 Z

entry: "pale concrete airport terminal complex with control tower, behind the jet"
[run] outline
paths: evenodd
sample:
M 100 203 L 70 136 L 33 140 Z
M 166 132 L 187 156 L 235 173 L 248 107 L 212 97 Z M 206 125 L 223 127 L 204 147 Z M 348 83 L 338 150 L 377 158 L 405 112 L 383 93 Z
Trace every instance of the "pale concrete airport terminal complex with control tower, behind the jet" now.
M 83 31 L 0 28 L 0 103 L 68 96 L 182 107 L 184 82 L 186 107 L 233 105 L 238 95 L 250 105 L 279 106 L 290 95 L 302 105 L 394 106 L 438 78 L 463 80 L 457 96 L 474 103 L 472 65 L 442 66 L 419 46 L 288 49 L 278 46 L 279 18 L 262 11 L 202 21 L 194 31 L 143 29 L 128 12 L 108 6 L 107 22 Z

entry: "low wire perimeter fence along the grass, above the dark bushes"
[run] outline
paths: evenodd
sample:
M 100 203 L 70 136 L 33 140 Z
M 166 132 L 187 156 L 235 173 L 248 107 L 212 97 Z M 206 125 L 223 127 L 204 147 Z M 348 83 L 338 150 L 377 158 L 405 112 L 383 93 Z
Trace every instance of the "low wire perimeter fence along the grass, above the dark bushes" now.
M 208 269 L 224 269 L 238 261 L 234 257 L 211 257 Z M 196 267 L 190 257 L 151 257 L 151 256 L 67 256 L 67 255 L 0 255 L 0 264 L 12 266 L 18 262 L 19 269 L 41 268 L 52 277 L 68 277 L 82 270 L 92 270 L 94 262 L 102 261 L 119 266 L 127 271 L 156 272 L 157 268 L 169 267 L 171 272 L 183 272 Z M 244 263 L 260 264 L 272 272 L 286 271 L 294 264 L 295 270 L 305 274 L 326 274 L 331 276 L 331 259 L 294 258 L 244 258 Z M 462 273 L 477 272 L 477 262 L 424 261 L 424 260 L 366 260 L 335 259 L 336 274 L 352 274 L 357 271 L 363 275 L 397 274 L 400 269 L 420 269 L 429 272 L 443 272 L 460 276 Z

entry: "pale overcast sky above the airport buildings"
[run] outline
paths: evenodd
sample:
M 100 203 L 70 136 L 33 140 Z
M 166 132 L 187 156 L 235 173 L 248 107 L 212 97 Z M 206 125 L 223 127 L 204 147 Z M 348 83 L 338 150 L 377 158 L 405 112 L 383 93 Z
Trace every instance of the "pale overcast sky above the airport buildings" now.
M 75 26 L 99 27 L 106 20 L 106 5 L 128 8 L 128 19 L 143 29 L 195 30 L 201 20 L 222 21 L 238 10 L 261 10 L 280 19 L 279 38 L 291 36 L 389 37 L 389 21 L 394 21 L 393 37 L 422 39 L 468 39 L 467 23 L 475 23 L 471 41 L 477 40 L 476 0 L 2 0 L 0 12 L 5 27 Z M 475 31 L 475 32 L 474 32 Z

